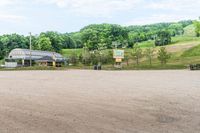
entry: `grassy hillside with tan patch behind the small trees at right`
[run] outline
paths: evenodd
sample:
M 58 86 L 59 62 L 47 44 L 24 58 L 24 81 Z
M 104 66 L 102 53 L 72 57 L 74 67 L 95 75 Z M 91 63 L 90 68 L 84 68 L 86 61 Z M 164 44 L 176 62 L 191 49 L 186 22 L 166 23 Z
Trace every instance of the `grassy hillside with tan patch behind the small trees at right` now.
M 185 69 L 189 64 L 200 63 L 200 38 L 195 37 L 194 26 L 189 25 L 184 28 L 184 34 L 172 37 L 172 43 L 165 46 L 167 51 L 170 53 L 171 58 L 166 66 L 161 66 L 157 59 L 157 56 L 153 57 L 153 65 L 149 66 L 149 61 L 144 56 L 140 65 L 137 66 L 133 59 L 129 59 L 129 65 L 127 61 L 124 61 L 124 69 Z M 139 43 L 139 46 L 144 51 L 149 47 L 155 47 L 154 41 L 143 41 Z M 155 47 L 156 52 L 160 47 Z M 75 50 L 64 49 L 62 50 L 63 55 L 69 57 Z M 82 49 L 75 51 L 80 55 Z M 106 50 L 107 51 L 107 50 Z M 131 57 L 131 49 L 125 49 L 126 55 Z M 156 53 L 154 53 L 156 54 Z M 113 69 L 112 65 L 104 65 L 104 69 Z

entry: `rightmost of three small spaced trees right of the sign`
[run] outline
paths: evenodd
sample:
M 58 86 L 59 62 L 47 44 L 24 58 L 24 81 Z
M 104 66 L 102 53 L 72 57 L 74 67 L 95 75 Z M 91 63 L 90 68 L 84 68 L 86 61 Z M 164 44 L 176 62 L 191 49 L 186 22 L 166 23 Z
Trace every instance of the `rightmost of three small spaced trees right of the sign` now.
M 170 54 L 167 52 L 165 47 L 161 47 L 158 51 L 158 60 L 161 62 L 162 65 L 165 65 L 170 59 Z

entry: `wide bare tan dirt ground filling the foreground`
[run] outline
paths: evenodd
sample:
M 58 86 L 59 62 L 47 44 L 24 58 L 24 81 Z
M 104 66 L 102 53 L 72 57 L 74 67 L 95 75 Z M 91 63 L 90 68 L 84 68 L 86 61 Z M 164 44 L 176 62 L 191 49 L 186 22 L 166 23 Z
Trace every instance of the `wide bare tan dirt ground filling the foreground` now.
M 0 133 L 199 133 L 200 71 L 0 72 Z

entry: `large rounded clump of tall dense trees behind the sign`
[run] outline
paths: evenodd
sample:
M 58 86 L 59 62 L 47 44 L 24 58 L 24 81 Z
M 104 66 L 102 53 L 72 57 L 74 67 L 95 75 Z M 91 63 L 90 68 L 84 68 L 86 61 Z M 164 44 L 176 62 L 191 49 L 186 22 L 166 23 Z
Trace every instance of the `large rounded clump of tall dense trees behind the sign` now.
M 99 44 L 106 44 L 107 48 L 112 48 L 113 42 L 119 42 L 120 47 L 123 47 L 124 41 L 128 40 L 128 31 L 119 25 L 94 24 L 83 28 L 80 32 L 82 42 L 90 51 L 97 50 Z

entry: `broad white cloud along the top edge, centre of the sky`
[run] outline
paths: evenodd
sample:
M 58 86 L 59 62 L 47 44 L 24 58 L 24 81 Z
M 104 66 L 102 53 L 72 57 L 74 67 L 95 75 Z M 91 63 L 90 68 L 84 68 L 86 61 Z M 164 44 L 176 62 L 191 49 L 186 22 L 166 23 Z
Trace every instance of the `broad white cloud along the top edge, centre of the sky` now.
M 36 0 L 40 3 L 55 4 L 77 15 L 109 17 L 116 12 L 134 9 L 143 0 Z

